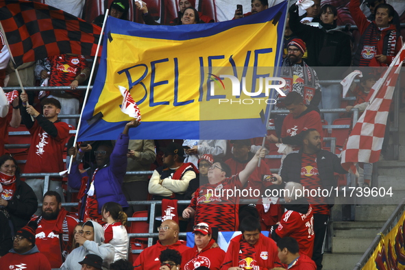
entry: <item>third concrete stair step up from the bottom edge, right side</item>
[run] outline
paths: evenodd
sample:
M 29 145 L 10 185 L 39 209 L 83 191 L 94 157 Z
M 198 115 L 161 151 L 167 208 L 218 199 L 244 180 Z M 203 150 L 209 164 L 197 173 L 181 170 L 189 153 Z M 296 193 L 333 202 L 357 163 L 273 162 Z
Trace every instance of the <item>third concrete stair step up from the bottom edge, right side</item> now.
M 380 232 L 383 221 L 340 221 L 332 223 L 334 237 L 374 238 Z

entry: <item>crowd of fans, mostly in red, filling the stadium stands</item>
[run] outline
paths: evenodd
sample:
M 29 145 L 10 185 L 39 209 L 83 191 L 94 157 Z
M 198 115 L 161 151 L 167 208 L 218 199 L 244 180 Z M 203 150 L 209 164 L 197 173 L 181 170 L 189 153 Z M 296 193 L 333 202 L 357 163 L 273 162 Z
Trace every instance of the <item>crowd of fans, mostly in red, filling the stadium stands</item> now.
M 22 122 L 31 134 L 23 173 L 59 173 L 71 162 L 67 184 L 78 192 L 77 198 L 66 198 L 64 182 L 56 177 L 42 196 L 44 179 L 21 180 L 17 161 L 7 149 L 0 149 L 0 269 L 21 264 L 22 256 L 32 269 L 61 265 L 62 269 L 132 269 L 125 261 L 132 258 L 128 255 L 127 216 L 147 207 L 130 206 L 127 201 L 146 200 L 162 201 L 155 221 L 159 240 L 136 258 L 135 269 L 322 269 L 323 239 L 333 202 L 291 195 L 285 196 L 286 204 L 280 206 L 262 200 L 261 195 L 280 188 L 298 191 L 303 186 L 336 186 L 334 173 L 347 173 L 336 155 L 321 149 L 324 132 L 319 108 L 343 106 L 341 85 L 323 86 L 319 79 L 343 79 L 349 73 L 347 68 L 334 67 L 391 63 L 401 45 L 399 16 L 382 2 L 365 1 L 371 11 L 369 19 L 374 20 L 371 23 L 360 10 L 360 1 L 350 1 L 349 10 L 361 36 L 358 49 L 352 49 L 349 34 L 336 28 L 338 11 L 333 5 L 320 7 L 315 0 L 303 17 L 299 17 L 297 6 L 291 5 L 281 71 L 289 83 L 284 88 L 286 97 L 277 97 L 275 107 L 290 114 L 275 117 L 275 132 L 267 136 L 265 148 L 260 147 L 262 138 L 130 140 L 128 132 L 140 125 L 138 121 L 128 122 L 114 141 L 73 145 L 69 130 L 75 129 L 76 121 L 60 121 L 58 116 L 79 112 L 82 92 L 76 88 L 88 79 L 88 62 L 84 56 L 61 55 L 21 66 L 25 86 L 70 86 L 71 90 L 44 88 L 15 97 L 1 115 L 0 143 L 8 143 L 9 125 L 19 127 Z M 146 24 L 158 24 L 144 2 L 135 5 Z M 238 8 L 234 19 L 267 8 L 267 0 L 252 0 L 251 12 L 243 14 Z M 127 19 L 128 10 L 129 2 L 113 1 L 110 16 Z M 195 10 L 194 1 L 180 0 L 178 15 L 171 25 L 214 21 Z M 94 23 L 102 21 L 100 15 Z M 0 60 L 6 64 L 0 74 L 1 86 L 18 86 L 14 72 L 6 69 L 8 59 Z M 352 86 L 356 102 L 343 106 L 347 112 L 365 110 L 367 93 L 379 72 L 363 70 L 360 84 Z M 324 118 L 333 123 L 339 114 L 325 114 Z M 279 174 L 271 173 L 270 169 L 276 168 L 270 160 L 257 167 L 260 159 L 276 149 L 275 143 L 286 146 Z M 297 151 L 289 154 L 292 150 Z M 68 156 L 66 164 L 64 154 Z M 371 180 L 369 165 L 362 165 L 366 186 Z M 149 170 L 154 170 L 150 177 L 125 175 L 127 171 Z M 238 196 L 212 192 L 221 190 L 256 190 L 258 195 L 249 193 L 243 199 L 260 197 L 260 201 L 239 204 Z M 79 201 L 76 210 L 68 212 L 62 207 L 64 201 L 75 199 Z M 179 199 L 190 199 L 191 204 L 177 206 Z M 38 209 L 41 203 L 42 209 Z M 236 230 L 242 234 L 231 241 L 225 253 L 215 241 L 217 234 Z M 269 231 L 269 237 L 261 231 Z M 193 232 L 195 247 L 186 247 L 179 232 Z

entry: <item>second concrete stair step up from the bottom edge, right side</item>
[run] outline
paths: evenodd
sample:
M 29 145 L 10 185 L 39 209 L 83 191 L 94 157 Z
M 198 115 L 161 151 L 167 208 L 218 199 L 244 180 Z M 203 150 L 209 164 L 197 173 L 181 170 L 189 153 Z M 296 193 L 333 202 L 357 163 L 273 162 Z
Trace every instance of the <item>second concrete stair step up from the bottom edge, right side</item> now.
M 359 254 L 366 251 L 374 237 L 332 237 L 332 254 Z

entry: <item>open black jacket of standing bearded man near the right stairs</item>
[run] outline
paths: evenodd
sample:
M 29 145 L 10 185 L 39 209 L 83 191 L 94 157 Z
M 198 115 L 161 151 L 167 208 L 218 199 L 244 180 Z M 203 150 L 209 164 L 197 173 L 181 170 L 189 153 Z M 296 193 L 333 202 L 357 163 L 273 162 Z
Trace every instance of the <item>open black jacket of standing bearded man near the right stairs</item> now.
M 302 149 L 293 151 L 284 158 L 280 167 L 280 176 L 283 182 L 297 182 L 301 183 L 301 165 L 302 163 Z M 319 171 L 319 178 L 323 188 L 328 189 L 336 188 L 337 183 L 334 179 L 334 173 L 347 173 L 341 165 L 341 158 L 338 158 L 330 151 L 321 149 L 317 152 L 317 166 Z M 328 204 L 334 204 L 332 196 L 328 198 Z

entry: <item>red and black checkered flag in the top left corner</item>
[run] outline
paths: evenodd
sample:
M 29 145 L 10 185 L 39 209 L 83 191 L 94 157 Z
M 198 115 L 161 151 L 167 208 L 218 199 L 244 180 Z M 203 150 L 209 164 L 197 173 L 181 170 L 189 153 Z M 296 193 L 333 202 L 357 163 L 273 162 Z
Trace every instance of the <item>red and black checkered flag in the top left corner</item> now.
M 34 1 L 0 0 L 0 21 L 16 66 L 74 53 L 95 56 L 101 27 Z

